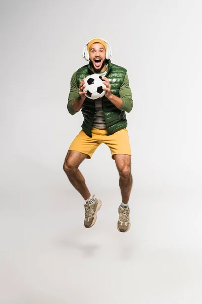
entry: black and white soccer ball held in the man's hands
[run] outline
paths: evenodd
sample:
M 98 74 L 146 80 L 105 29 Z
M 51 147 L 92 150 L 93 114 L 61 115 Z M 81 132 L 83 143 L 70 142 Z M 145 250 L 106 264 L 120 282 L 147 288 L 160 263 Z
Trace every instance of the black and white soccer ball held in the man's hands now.
M 106 91 L 103 88 L 106 88 L 106 85 L 102 81 L 102 76 L 99 74 L 92 74 L 85 78 L 85 88 L 83 91 L 86 91 L 86 97 L 90 99 L 97 99 L 103 97 Z

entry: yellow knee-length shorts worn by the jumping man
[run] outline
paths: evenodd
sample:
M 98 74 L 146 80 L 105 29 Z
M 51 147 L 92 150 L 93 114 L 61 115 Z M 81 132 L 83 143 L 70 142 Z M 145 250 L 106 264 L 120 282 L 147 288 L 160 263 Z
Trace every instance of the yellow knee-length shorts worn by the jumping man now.
M 90 159 L 96 148 L 101 143 L 105 143 L 111 150 L 113 160 L 115 154 L 131 155 L 128 130 L 126 128 L 111 135 L 106 135 L 108 133 L 107 130 L 99 130 L 94 127 L 92 127 L 91 132 L 92 137 L 89 137 L 81 130 L 71 143 L 69 150 L 87 154 L 87 159 Z

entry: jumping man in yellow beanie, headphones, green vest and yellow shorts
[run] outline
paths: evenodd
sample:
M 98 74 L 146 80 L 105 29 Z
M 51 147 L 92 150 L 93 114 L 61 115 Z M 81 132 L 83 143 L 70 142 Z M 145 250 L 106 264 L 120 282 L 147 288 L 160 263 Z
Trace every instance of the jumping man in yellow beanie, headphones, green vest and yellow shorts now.
M 132 94 L 126 69 L 111 62 L 109 43 L 104 39 L 91 39 L 87 42 L 83 57 L 89 64 L 79 68 L 71 78 L 71 89 L 67 108 L 71 115 L 82 111 L 82 130 L 71 143 L 63 169 L 72 185 L 85 200 L 84 226 L 91 227 L 97 218 L 102 202 L 91 195 L 79 165 L 90 159 L 95 149 L 105 143 L 110 147 L 112 159 L 119 172 L 119 186 L 122 203 L 118 208 L 117 229 L 127 232 L 130 229 L 129 197 L 132 188 L 131 149 L 128 137 L 126 113 L 133 107 Z M 104 97 L 95 100 L 85 96 L 84 80 L 87 75 L 98 73 L 106 85 Z M 93 173 L 93 172 L 92 172 Z

